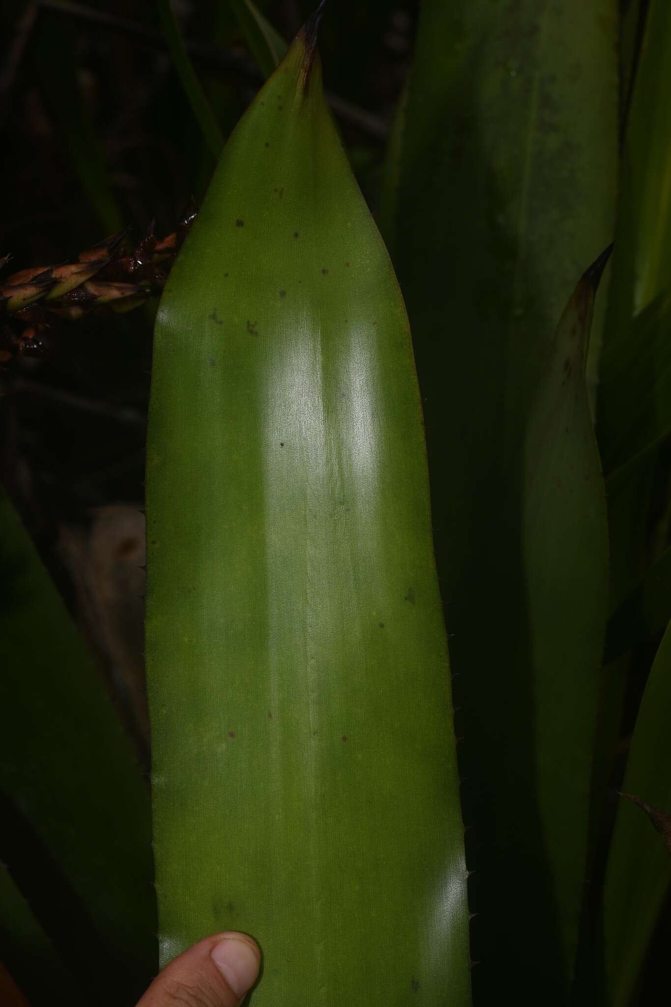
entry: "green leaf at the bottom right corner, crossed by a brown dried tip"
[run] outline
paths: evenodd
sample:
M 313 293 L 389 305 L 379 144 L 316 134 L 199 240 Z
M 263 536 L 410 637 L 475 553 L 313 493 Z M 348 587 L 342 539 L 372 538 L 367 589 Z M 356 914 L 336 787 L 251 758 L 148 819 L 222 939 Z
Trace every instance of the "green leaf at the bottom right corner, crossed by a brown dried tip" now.
M 646 685 L 622 789 L 671 811 L 671 629 L 667 628 Z M 671 860 L 639 808 L 622 801 L 608 860 L 603 911 L 606 1000 L 626 1007 L 671 882 Z

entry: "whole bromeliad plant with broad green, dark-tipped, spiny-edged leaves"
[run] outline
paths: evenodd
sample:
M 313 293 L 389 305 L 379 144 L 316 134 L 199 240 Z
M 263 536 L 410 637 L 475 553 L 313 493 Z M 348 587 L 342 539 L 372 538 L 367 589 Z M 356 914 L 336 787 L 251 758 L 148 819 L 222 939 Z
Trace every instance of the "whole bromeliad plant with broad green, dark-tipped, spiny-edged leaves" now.
M 634 1004 L 671 879 L 645 814 L 664 833 L 668 629 L 628 746 L 635 800 L 611 821 L 607 794 L 632 653 L 671 616 L 668 521 L 650 535 L 651 500 L 669 508 L 652 486 L 671 431 L 671 14 L 652 0 L 635 65 L 642 14 L 625 5 L 616 226 L 620 5 L 425 0 L 380 199 L 390 260 L 324 100 L 320 12 L 285 53 L 249 2 L 231 6 L 270 78 L 223 149 L 154 342 L 161 964 L 234 928 L 264 953 L 257 1007 L 465 1007 L 502 988 Z M 20 586 L 32 560 L 9 542 Z M 3 617 L 21 656 L 16 597 Z M 68 690 L 90 680 L 82 666 Z M 26 711 L 42 730 L 47 712 Z M 54 738 L 63 765 L 76 744 Z M 125 757 L 110 793 L 128 785 Z M 58 811 L 26 758 L 2 788 L 60 858 Z M 144 812 L 124 814 L 130 830 Z M 27 937 L 1 950 L 29 984 L 29 942 L 55 952 L 8 866 Z M 142 927 L 137 866 L 121 877 Z M 104 937 L 118 911 L 90 899 L 100 869 L 63 860 Z

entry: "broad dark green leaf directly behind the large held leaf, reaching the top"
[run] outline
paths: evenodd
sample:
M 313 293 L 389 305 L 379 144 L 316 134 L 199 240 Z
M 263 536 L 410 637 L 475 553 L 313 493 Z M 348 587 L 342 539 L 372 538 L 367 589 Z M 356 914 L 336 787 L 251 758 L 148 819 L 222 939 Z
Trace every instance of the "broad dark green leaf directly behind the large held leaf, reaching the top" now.
M 455 702 L 464 710 L 479 983 L 491 997 L 507 983 L 520 1001 L 542 987 L 548 1003 L 565 1002 L 582 894 L 595 643 L 591 634 L 558 678 L 554 661 L 530 653 L 529 640 L 540 653 L 556 595 L 533 594 L 521 516 L 526 429 L 553 333 L 584 264 L 613 238 L 617 8 L 617 0 L 425 0 L 402 140 L 394 265 L 425 404 Z M 545 534 L 568 523 L 568 565 L 577 530 L 554 510 L 559 500 L 564 493 Z M 576 579 L 574 599 L 553 612 L 557 628 L 569 625 L 564 605 L 572 612 L 582 598 L 601 631 L 601 582 L 589 593 L 601 575 L 600 565 Z M 567 576 L 560 567 L 558 584 Z

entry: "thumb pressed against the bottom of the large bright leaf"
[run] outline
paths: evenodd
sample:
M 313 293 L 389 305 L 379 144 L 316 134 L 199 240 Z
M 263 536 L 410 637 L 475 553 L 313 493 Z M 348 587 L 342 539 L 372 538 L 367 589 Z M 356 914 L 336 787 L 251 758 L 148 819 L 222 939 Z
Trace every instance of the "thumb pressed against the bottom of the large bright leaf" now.
M 246 933 L 215 933 L 173 959 L 137 1007 L 238 1007 L 260 967 L 261 952 Z

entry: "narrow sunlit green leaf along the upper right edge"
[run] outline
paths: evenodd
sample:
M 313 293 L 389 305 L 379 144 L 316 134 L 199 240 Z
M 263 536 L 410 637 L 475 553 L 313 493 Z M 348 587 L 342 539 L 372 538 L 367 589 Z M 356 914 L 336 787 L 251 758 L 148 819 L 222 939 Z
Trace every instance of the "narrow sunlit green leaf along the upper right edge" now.
M 663 385 L 654 383 L 664 381 L 658 379 L 657 365 L 666 367 L 663 341 L 669 324 L 671 107 L 664 97 L 669 89 L 671 7 L 666 0 L 652 0 L 627 124 L 599 396 L 599 440 L 607 470 L 640 450 L 644 434 L 651 439 L 650 423 L 640 429 L 641 414 L 650 421 L 655 406 L 668 412 Z

